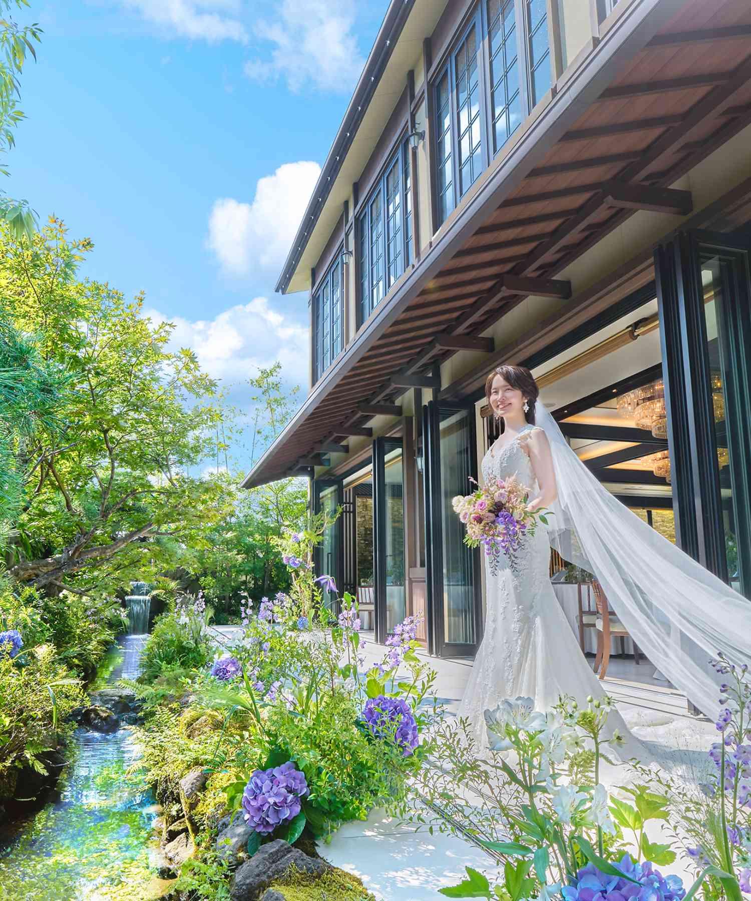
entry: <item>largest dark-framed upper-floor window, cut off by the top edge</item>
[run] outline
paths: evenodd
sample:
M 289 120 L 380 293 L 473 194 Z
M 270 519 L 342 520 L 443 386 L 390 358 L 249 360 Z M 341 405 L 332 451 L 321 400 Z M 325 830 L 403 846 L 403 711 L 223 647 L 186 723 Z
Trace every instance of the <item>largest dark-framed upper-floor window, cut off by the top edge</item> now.
M 499 17 L 490 18 L 490 3 L 492 0 L 481 0 L 472 7 L 471 12 L 463 20 L 463 24 L 451 46 L 444 53 L 441 63 L 435 67 L 435 73 L 431 76 L 429 90 L 431 92 L 433 122 L 431 123 L 431 141 L 433 141 L 433 152 L 435 153 L 435 171 L 433 173 L 433 193 L 435 196 L 435 217 L 436 224 L 442 225 L 453 210 L 461 203 L 463 196 L 466 195 L 469 188 L 477 180 L 477 177 L 484 169 L 488 168 L 490 161 L 503 150 L 508 143 L 511 135 L 516 132 L 521 123 L 525 122 L 527 117 L 532 113 L 536 105 L 549 92 L 550 86 L 554 82 L 554 35 L 551 34 L 552 24 L 549 16 L 549 6 L 542 0 L 545 12 L 540 16 L 536 23 L 530 22 L 531 10 L 536 8 L 539 0 L 499 0 Z M 493 84 L 493 71 L 491 63 L 498 56 L 499 50 L 503 53 L 506 48 L 506 41 L 502 40 L 500 47 L 490 46 L 490 29 L 497 21 L 503 23 L 503 12 L 509 6 L 514 10 L 514 26 L 513 41 L 516 48 L 516 57 L 513 66 L 503 67 L 504 78 L 510 72 L 511 68 L 516 67 L 517 88 L 510 92 L 510 96 L 505 91 L 504 82 L 504 105 L 503 107 L 494 104 L 494 90 L 498 85 Z M 534 24 L 534 28 L 531 27 Z M 471 181 L 463 185 L 461 180 L 461 163 L 460 163 L 460 123 L 459 109 L 456 97 L 456 57 L 461 52 L 464 42 L 469 36 L 472 28 L 478 36 L 476 40 L 477 47 L 477 71 L 478 71 L 478 90 L 480 105 L 480 171 L 473 174 Z M 545 51 L 539 55 L 539 59 L 533 68 L 532 47 L 533 39 L 536 34 L 545 30 L 547 42 Z M 510 36 L 511 30 L 508 31 Z M 536 91 L 535 73 L 541 66 L 546 67 L 548 73 L 545 90 Z M 445 94 L 443 93 L 445 90 Z M 446 129 L 439 124 L 439 115 L 445 109 L 444 97 L 448 96 L 447 117 L 450 129 L 450 146 L 451 160 L 446 165 L 448 153 L 442 152 L 442 147 L 446 147 Z M 497 96 L 497 95 L 495 95 Z M 519 120 L 510 130 L 502 141 L 499 141 L 499 135 L 496 133 L 496 121 L 499 116 L 505 114 L 508 109 L 508 101 L 515 101 L 519 104 Z M 446 113 L 444 112 L 443 121 L 445 122 Z M 451 186 L 449 187 L 448 172 L 451 173 Z M 440 178 L 444 175 L 442 184 Z

